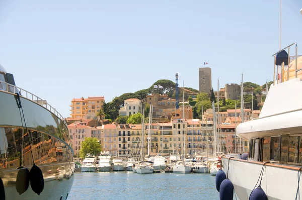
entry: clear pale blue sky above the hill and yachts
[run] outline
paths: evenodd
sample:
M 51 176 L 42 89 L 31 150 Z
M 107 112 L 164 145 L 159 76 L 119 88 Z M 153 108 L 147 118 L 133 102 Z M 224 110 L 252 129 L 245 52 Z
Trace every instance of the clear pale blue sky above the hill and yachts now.
M 302 1 L 282 2 L 282 46 L 302 54 Z M 272 80 L 279 50 L 279 0 L 0 0 L 0 64 L 16 84 L 68 117 L 73 97 L 135 92 L 159 79 L 198 89 Z

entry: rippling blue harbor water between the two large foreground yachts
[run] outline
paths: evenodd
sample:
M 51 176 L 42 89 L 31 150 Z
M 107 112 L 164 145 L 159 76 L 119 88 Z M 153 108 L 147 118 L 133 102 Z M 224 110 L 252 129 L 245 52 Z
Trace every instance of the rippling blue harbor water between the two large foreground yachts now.
M 210 174 L 77 172 L 68 199 L 219 199 Z

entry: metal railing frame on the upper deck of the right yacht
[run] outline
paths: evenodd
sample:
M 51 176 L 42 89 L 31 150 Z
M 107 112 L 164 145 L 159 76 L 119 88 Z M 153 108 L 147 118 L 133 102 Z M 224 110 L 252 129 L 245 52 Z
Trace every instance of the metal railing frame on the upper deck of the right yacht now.
M 295 56 L 290 56 L 290 47 L 291 46 L 295 47 Z M 286 72 L 284 71 L 284 62 L 283 62 L 281 64 L 281 67 L 280 67 L 280 75 L 281 75 L 281 77 L 279 78 L 279 72 L 278 72 L 279 69 L 278 69 L 278 66 L 276 67 L 276 55 L 278 53 L 280 53 L 281 51 L 286 50 L 286 49 L 287 49 L 287 54 L 288 54 L 288 58 L 287 58 L 288 59 L 287 60 L 287 71 Z M 274 81 L 273 81 L 274 85 L 275 85 L 275 83 L 278 84 L 278 82 L 279 82 L 278 80 L 280 80 L 280 83 L 284 82 L 284 73 L 287 73 L 287 80 L 289 80 L 289 63 L 290 63 L 290 58 L 295 58 L 295 78 L 297 78 L 298 72 L 300 70 L 302 70 L 302 68 L 301 69 L 297 69 L 297 65 L 298 65 L 298 59 L 297 59 L 298 58 L 298 46 L 297 46 L 296 42 L 292 43 L 291 45 L 288 45 L 287 47 L 285 47 L 285 48 L 283 48 L 281 50 L 279 50 L 277 53 L 273 54 L 272 56 L 274 57 Z

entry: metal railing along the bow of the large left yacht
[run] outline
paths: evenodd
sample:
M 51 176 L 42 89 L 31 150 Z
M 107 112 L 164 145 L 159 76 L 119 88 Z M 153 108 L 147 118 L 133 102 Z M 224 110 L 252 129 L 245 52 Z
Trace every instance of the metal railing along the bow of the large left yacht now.
M 46 100 L 43 100 L 39 96 L 37 96 L 37 95 L 35 95 L 35 94 L 25 90 L 25 89 L 22 89 L 21 87 L 17 87 L 15 85 L 9 84 L 9 83 L 1 81 L 1 80 L 0 80 L 0 85 L 4 85 L 4 87 L 2 88 L 4 91 L 12 93 L 12 94 L 19 93 L 20 95 L 22 95 L 22 97 L 28 99 L 29 101 L 32 101 L 32 102 L 34 102 L 36 104 L 39 104 L 40 106 L 44 107 L 46 110 L 48 110 L 49 112 L 51 112 L 52 114 L 57 116 L 60 120 L 62 120 L 62 122 L 67 126 L 67 123 L 64 120 L 63 116 L 61 114 L 59 114 L 59 112 L 57 112 L 55 110 L 55 108 L 50 106 L 46 102 Z

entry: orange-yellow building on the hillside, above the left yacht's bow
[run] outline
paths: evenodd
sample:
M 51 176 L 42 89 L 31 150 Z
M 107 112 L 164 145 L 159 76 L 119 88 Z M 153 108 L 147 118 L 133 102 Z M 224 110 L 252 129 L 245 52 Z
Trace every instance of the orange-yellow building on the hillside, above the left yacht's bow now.
M 73 98 L 70 105 L 70 118 L 83 119 L 87 114 L 96 114 L 105 103 L 104 96 L 88 96 L 88 98 Z M 90 115 L 91 116 L 91 115 Z M 95 116 L 95 115 L 94 115 Z

